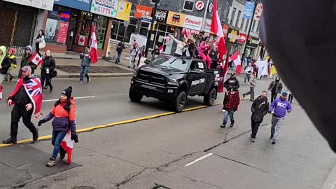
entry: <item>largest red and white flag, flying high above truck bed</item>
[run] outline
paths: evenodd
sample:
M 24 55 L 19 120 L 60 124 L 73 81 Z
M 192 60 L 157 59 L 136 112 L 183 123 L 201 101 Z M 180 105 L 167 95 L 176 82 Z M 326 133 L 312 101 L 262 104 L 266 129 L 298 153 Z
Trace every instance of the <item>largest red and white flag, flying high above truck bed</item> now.
M 214 14 L 212 16 L 210 31 L 213 34 L 217 35 L 216 41 L 218 41 L 219 59 L 221 60 L 221 62 L 223 62 L 223 57 L 226 53 L 226 46 L 225 46 L 225 38 L 224 38 L 223 28 L 221 25 L 221 20 L 218 15 L 217 0 L 214 0 Z

